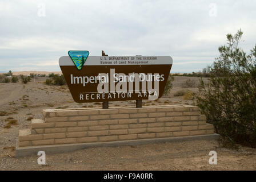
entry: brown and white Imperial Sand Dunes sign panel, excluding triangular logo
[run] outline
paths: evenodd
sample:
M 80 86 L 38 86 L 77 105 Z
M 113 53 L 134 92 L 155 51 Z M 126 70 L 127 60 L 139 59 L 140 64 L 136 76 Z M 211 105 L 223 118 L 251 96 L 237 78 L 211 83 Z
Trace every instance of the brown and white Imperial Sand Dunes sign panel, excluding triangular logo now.
M 59 66 L 75 102 L 155 100 L 169 77 L 170 56 L 88 56 L 78 69 L 69 56 Z

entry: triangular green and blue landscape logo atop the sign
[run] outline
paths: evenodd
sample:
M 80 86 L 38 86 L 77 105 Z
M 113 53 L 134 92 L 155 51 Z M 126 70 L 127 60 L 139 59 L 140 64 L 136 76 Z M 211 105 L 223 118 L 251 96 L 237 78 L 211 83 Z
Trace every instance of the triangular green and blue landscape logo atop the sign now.
M 89 51 L 69 51 L 68 53 L 69 57 L 75 64 L 75 67 L 77 67 L 78 70 L 81 70 L 89 56 Z

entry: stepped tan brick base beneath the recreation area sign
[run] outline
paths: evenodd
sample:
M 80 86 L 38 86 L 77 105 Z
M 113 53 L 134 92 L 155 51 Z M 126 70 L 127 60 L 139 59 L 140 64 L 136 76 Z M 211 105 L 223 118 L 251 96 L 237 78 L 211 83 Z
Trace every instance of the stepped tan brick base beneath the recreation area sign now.
M 16 156 L 218 137 L 205 115 L 190 105 L 46 109 L 31 129 L 19 131 Z

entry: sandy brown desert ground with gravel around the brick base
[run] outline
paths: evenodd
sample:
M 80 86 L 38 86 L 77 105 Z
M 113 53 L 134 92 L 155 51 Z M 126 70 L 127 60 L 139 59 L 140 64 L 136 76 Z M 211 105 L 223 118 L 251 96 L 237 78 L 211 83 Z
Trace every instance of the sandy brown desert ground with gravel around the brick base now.
M 23 73 L 24 74 L 24 73 Z M 43 73 L 42 73 L 43 74 Z M 24 74 L 25 75 L 25 74 Z M 174 96 L 188 78 L 175 77 L 173 89 L 157 101 L 143 105 L 195 105 L 195 100 Z M 255 170 L 256 148 L 239 146 L 237 150 L 223 147 L 216 140 L 167 142 L 139 146 L 97 147 L 46 154 L 46 165 L 37 164 L 38 156 L 15 158 L 15 143 L 20 129 L 30 127 L 31 118 L 42 118 L 43 109 L 101 107 L 101 103 L 77 104 L 67 86 L 46 85 L 46 77 L 32 79 L 27 84 L 0 83 L 0 170 Z M 207 79 L 207 78 L 205 78 Z M 111 102 L 114 106 L 135 106 L 135 101 Z M 9 119 L 8 119 L 9 118 Z M 17 120 L 6 128 L 10 120 Z M 218 164 L 209 164 L 209 152 L 217 152 Z

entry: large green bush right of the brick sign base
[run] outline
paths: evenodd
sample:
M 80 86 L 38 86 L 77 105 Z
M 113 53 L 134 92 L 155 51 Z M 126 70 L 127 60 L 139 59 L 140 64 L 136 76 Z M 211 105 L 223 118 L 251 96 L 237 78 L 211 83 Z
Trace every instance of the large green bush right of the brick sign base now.
M 223 139 L 256 147 L 256 46 L 246 54 L 238 47 L 242 34 L 227 34 L 227 45 L 219 47 L 209 82 L 201 78 L 196 98 Z

